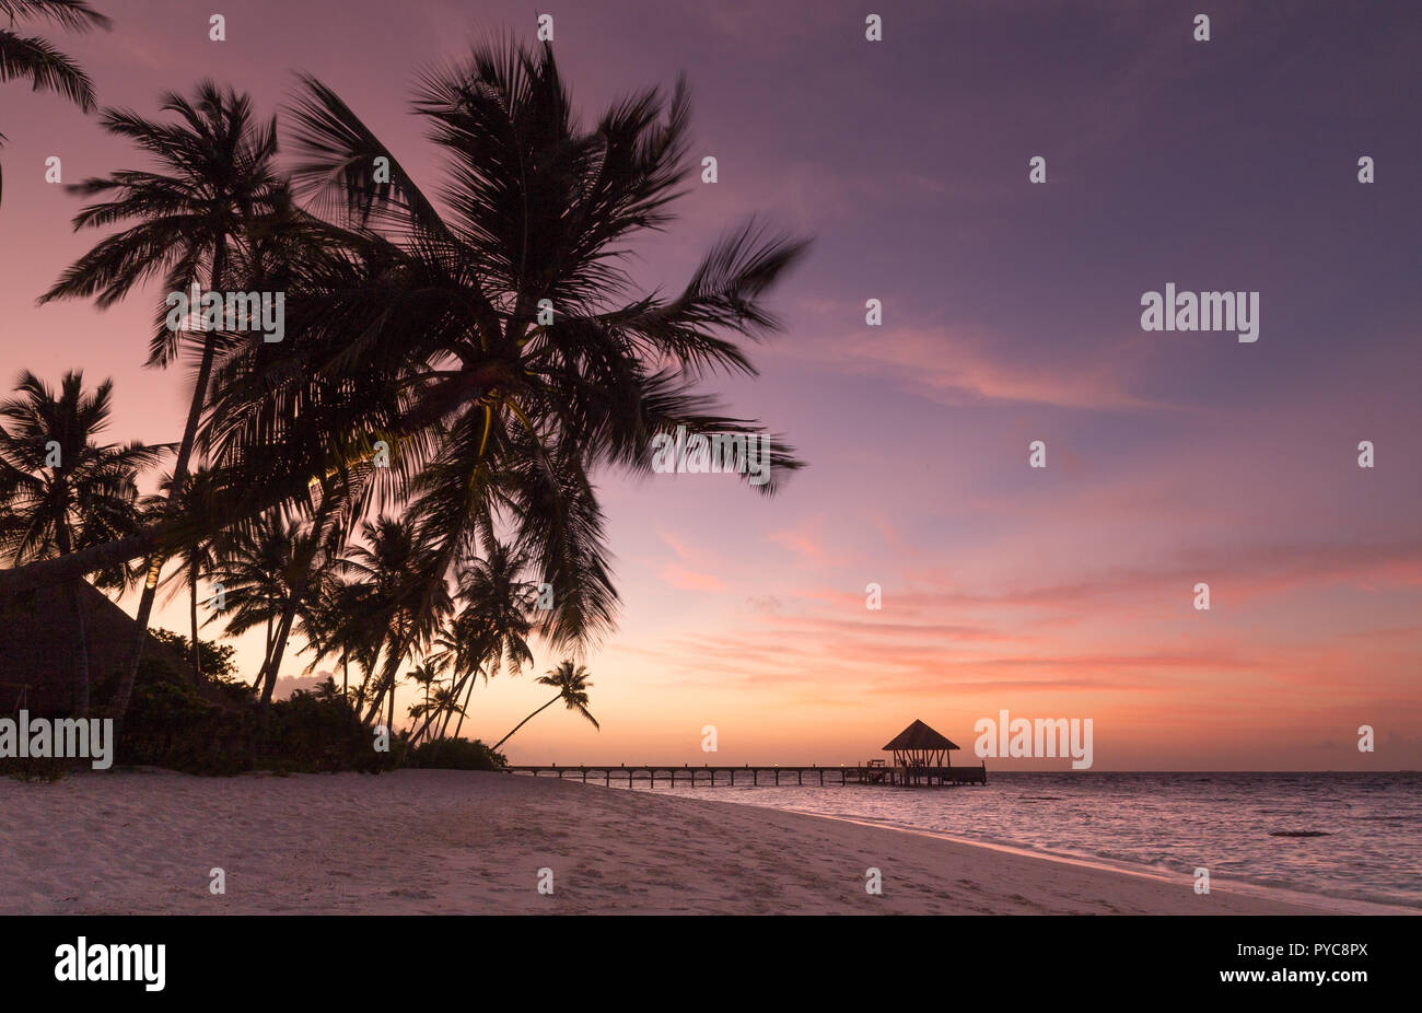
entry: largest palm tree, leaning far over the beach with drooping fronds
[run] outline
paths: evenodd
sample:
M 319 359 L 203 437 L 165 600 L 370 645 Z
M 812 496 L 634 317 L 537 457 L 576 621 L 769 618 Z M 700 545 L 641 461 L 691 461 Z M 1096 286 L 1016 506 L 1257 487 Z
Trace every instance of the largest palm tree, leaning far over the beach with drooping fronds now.
M 390 468 L 360 497 L 418 528 L 427 596 L 506 531 L 552 586 L 547 639 L 596 639 L 617 593 L 594 472 L 650 472 L 653 437 L 677 427 L 762 435 L 700 386 L 754 374 L 742 344 L 778 329 L 765 296 L 805 243 L 747 223 L 680 292 L 637 289 L 623 255 L 671 221 L 687 178 L 684 87 L 627 98 L 584 128 L 552 50 L 510 43 L 427 74 L 414 108 L 445 169 L 438 206 L 336 92 L 304 78 L 294 179 L 331 221 L 292 219 L 303 242 L 280 258 L 287 340 L 223 350 L 203 445 L 215 468 L 247 475 L 243 509 L 259 512 L 299 499 L 309 475 L 344 482 L 385 441 Z M 765 494 L 801 467 L 772 447 Z M 164 535 L 0 575 L 0 595 Z

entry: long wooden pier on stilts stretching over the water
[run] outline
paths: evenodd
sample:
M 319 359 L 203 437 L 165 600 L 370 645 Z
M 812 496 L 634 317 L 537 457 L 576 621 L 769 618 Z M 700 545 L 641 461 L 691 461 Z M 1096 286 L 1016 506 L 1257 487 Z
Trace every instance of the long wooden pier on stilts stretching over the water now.
M 735 787 L 739 785 L 850 785 L 850 784 L 883 784 L 899 788 L 917 787 L 956 787 L 960 784 L 987 784 L 987 764 L 980 767 L 912 767 L 912 765 L 873 765 L 863 767 L 727 767 L 702 764 L 693 767 L 681 764 L 619 764 L 607 767 L 599 764 L 576 764 L 559 767 L 550 764 L 515 764 L 505 767 L 510 774 L 532 774 L 540 777 L 553 774 L 557 778 L 572 777 L 582 781 L 602 781 L 611 787 L 613 781 L 633 787 L 636 781 L 643 781 L 647 787 L 657 787 L 657 781 L 667 781 L 671 787 L 678 784 L 698 787 Z

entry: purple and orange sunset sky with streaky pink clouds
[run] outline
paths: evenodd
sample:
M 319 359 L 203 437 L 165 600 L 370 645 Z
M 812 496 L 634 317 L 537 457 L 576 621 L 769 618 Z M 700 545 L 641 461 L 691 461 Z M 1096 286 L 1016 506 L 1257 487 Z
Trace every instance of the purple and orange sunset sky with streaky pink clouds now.
M 1095 770 L 1422 767 L 1422 9 L 228 0 L 215 43 L 213 4 L 97 6 L 112 31 L 47 34 L 102 105 L 152 115 L 213 77 L 273 112 L 310 71 L 427 191 L 417 71 L 532 40 L 543 10 L 587 120 L 690 80 L 718 179 L 636 243 L 641 283 L 678 287 L 752 213 L 813 238 L 759 377 L 710 387 L 809 467 L 774 499 L 602 475 L 623 598 L 582 659 L 602 730 L 550 707 L 512 761 L 859 763 L 921 718 L 978 763 L 975 723 L 1007 710 L 1091 718 Z M 191 378 L 142 367 L 161 293 L 36 306 L 98 238 L 46 158 L 75 182 L 141 157 L 16 83 L 0 131 L 0 378 L 112 377 L 109 437 L 176 441 Z M 1257 292 L 1257 340 L 1143 330 L 1167 283 Z M 182 598 L 156 616 L 188 629 Z M 239 642 L 246 677 L 260 653 Z M 535 653 L 475 690 L 465 734 L 547 700 L 560 656 Z

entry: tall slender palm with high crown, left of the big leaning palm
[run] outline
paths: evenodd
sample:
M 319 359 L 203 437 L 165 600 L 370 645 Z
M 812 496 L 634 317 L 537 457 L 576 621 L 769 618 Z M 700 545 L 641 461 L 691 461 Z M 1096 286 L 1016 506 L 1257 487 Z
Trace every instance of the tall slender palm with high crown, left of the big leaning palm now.
M 230 262 L 256 262 L 255 236 L 263 222 L 279 215 L 287 203 L 286 186 L 273 161 L 276 120 L 257 124 L 247 95 L 219 88 L 212 81 L 199 84 L 192 101 L 172 92 L 164 95 L 161 108 L 176 114 L 179 122 L 155 122 L 127 110 L 104 111 L 104 128 L 148 152 L 156 168 L 115 172 L 68 188 L 87 198 L 104 198 L 80 211 L 74 218 L 75 230 L 127 228 L 75 260 L 41 303 L 92 296 L 100 307 L 108 307 L 155 276 L 164 277 L 168 292 L 186 292 L 202 276 L 206 276 L 209 292 L 220 292 L 230 280 Z M 169 497 L 188 481 L 220 339 L 218 330 L 201 332 L 201 340 L 196 333 L 169 329 L 161 320 L 149 343 L 149 366 L 172 363 L 183 341 L 196 341 L 201 347 Z M 148 578 L 138 603 L 138 639 L 115 704 L 118 721 L 128 707 L 142 660 L 162 561 L 161 552 L 148 561 Z

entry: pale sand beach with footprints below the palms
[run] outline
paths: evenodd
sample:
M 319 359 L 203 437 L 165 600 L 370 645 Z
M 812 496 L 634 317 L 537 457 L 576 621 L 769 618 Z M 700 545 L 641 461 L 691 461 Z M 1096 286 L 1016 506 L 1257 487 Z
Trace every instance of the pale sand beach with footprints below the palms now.
M 708 795 L 714 790 L 708 791 Z M 882 871 L 883 893 L 865 891 Z M 226 893 L 209 891 L 213 868 Z M 539 869 L 553 871 L 552 895 Z M 0 778 L 0 913 L 1321 913 L 877 827 L 472 771 Z

